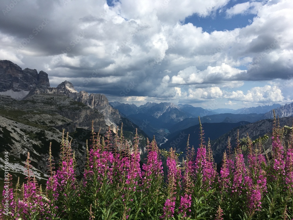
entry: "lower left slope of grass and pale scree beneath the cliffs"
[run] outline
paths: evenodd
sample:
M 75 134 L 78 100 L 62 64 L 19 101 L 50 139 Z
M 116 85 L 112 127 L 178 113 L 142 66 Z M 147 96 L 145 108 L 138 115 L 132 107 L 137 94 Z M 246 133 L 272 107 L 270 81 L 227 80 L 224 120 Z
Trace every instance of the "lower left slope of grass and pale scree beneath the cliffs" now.
M 16 100 L 0 95 L 0 168 L 4 167 L 4 154 L 9 152 L 13 166 L 11 173 L 23 173 L 23 163 L 30 152 L 36 177 L 46 178 L 50 142 L 55 161 L 58 161 L 62 130 L 69 132 L 72 148 L 78 163 L 78 172 L 84 168 L 86 140 L 91 139 L 91 128 L 105 134 L 109 126 L 97 109 L 58 94 L 36 94 L 25 100 Z M 124 134 L 130 143 L 135 129 L 129 120 L 122 118 Z M 141 133 L 141 132 L 140 132 Z M 113 133 L 114 134 L 114 133 Z M 140 151 L 145 151 L 144 135 L 139 134 Z M 90 142 L 89 142 L 90 143 Z

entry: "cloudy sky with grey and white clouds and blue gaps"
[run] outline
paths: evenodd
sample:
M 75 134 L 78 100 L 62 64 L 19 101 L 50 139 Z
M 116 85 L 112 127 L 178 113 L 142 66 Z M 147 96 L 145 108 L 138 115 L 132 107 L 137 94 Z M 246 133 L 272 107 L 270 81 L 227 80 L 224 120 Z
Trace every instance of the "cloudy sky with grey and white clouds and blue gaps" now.
M 292 0 L 1 0 L 0 60 L 110 101 L 293 100 Z

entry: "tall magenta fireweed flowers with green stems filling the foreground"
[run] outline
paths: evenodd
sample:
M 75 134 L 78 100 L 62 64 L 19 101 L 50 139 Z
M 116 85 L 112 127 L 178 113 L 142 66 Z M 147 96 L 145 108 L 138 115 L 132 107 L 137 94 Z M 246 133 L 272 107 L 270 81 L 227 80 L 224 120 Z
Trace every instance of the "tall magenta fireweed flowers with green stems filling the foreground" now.
M 27 180 L 9 187 L 0 219 L 293 219 L 293 139 L 284 141 L 283 132 L 275 120 L 270 160 L 250 138 L 247 163 L 240 141 L 235 148 L 228 143 L 219 173 L 202 127 L 200 146 L 187 143 L 182 161 L 175 149 L 159 150 L 155 139 L 141 160 L 138 137 L 129 145 L 122 128 L 119 136 L 93 132 L 81 180 L 65 135 L 56 164 L 50 148 L 44 191 L 28 153 Z

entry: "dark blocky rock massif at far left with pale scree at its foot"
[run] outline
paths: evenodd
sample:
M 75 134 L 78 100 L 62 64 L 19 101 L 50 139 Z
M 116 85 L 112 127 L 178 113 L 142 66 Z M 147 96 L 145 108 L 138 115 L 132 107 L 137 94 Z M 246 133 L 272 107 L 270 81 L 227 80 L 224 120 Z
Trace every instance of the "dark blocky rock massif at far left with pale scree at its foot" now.
M 50 87 L 47 73 L 24 69 L 9 60 L 0 60 L 0 95 L 21 100 L 36 86 Z

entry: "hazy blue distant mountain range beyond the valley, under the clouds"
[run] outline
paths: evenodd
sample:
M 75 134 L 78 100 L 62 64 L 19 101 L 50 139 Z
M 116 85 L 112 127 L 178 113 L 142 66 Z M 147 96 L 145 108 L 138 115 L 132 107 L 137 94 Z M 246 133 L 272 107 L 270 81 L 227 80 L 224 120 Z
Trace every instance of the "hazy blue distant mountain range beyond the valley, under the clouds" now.
M 275 110 L 276 116 L 279 117 L 291 116 L 293 114 L 293 103 L 284 106 L 273 104 L 271 106 L 258 106 L 237 110 L 215 109 L 212 111 L 188 104 L 176 105 L 168 102 L 159 104 L 148 102 L 144 105 L 136 106 L 115 101 L 110 102 L 110 105 L 118 109 L 122 115 L 134 124 L 137 124 L 149 137 L 155 135 L 158 143 L 163 143 L 167 136 L 176 137 L 181 131 L 186 131 L 186 129 L 198 125 L 198 116 L 200 116 L 202 123 L 232 123 L 236 126 L 241 121 L 253 123 L 263 119 L 272 119 L 272 109 Z M 234 126 L 232 124 L 227 126 L 227 128 L 232 128 Z M 219 127 L 215 126 L 215 133 L 218 132 L 217 129 Z M 223 131 L 226 131 L 226 129 L 223 129 Z M 196 143 L 192 144 L 196 145 Z M 166 147 L 166 145 L 162 146 Z

